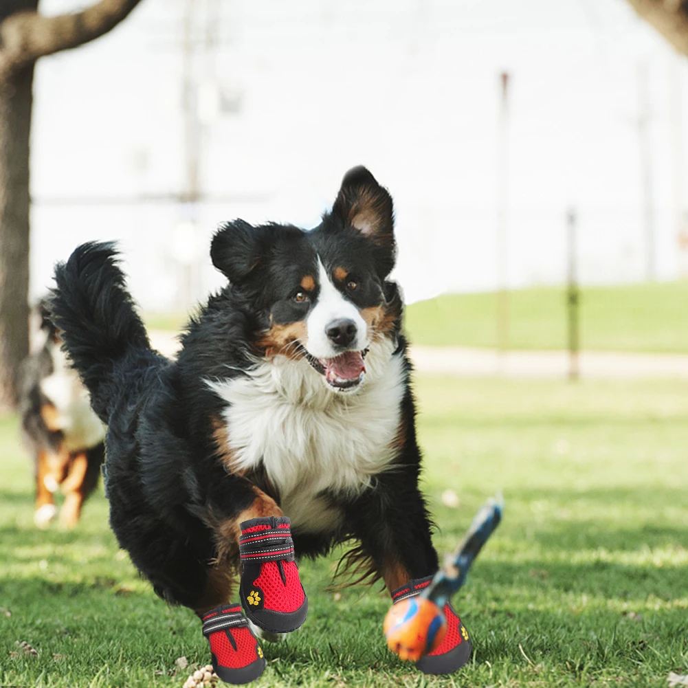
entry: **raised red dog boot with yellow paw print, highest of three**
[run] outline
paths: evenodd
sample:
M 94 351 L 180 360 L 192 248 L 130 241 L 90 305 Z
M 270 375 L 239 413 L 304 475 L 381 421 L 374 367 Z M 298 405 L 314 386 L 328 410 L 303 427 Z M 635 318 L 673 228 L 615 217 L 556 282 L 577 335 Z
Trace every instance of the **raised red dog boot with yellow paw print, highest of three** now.
M 297 630 L 308 612 L 308 597 L 294 561 L 289 519 L 269 516 L 241 523 L 241 603 L 246 616 L 272 633 Z

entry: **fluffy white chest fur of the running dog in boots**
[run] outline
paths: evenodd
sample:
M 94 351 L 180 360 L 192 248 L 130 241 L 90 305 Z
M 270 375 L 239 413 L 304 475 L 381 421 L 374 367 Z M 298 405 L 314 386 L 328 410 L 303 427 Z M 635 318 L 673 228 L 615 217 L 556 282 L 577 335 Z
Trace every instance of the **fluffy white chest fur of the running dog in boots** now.
M 356 394 L 336 394 L 307 361 L 278 357 L 249 378 L 210 383 L 225 411 L 237 470 L 261 463 L 292 525 L 336 528 L 338 508 L 321 493 L 356 495 L 394 459 L 404 395 L 401 356 L 391 343 L 371 347 Z

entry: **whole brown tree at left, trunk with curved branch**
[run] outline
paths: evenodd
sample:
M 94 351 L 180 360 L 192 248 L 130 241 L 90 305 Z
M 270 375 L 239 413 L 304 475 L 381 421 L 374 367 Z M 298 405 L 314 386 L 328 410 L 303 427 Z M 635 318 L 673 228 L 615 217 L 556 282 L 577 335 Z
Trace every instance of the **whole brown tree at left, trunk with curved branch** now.
M 94 41 L 140 0 L 98 0 L 44 17 L 39 0 L 0 0 L 0 413 L 17 403 L 29 351 L 29 133 L 34 64 Z

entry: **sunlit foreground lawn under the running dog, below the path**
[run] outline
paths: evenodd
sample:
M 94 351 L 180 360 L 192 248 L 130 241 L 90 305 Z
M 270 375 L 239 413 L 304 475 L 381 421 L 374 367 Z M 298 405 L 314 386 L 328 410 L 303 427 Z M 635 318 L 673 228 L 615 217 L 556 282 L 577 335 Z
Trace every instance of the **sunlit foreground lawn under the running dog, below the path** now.
M 443 678 L 400 662 L 381 632 L 387 595 L 327 592 L 333 558 L 301 566 L 308 620 L 264 646 L 255 685 L 664 688 L 688 674 L 688 383 L 423 378 L 418 395 L 438 548 L 495 489 L 506 499 L 455 599 L 473 660 Z M 137 577 L 102 493 L 75 531 L 37 531 L 13 419 L 0 455 L 0 685 L 181 687 L 176 658 L 209 660 L 200 624 Z M 12 658 L 17 641 L 38 656 Z

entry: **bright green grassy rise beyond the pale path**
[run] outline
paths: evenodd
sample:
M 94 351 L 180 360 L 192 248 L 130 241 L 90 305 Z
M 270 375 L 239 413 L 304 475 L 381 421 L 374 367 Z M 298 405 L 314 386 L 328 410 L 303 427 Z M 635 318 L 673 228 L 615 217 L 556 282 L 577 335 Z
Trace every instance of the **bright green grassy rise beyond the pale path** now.
M 508 346 L 565 349 L 563 288 L 510 292 Z M 424 345 L 494 347 L 497 297 L 448 294 L 407 308 L 411 341 Z M 601 351 L 688 352 L 688 281 L 585 288 L 581 347 Z

